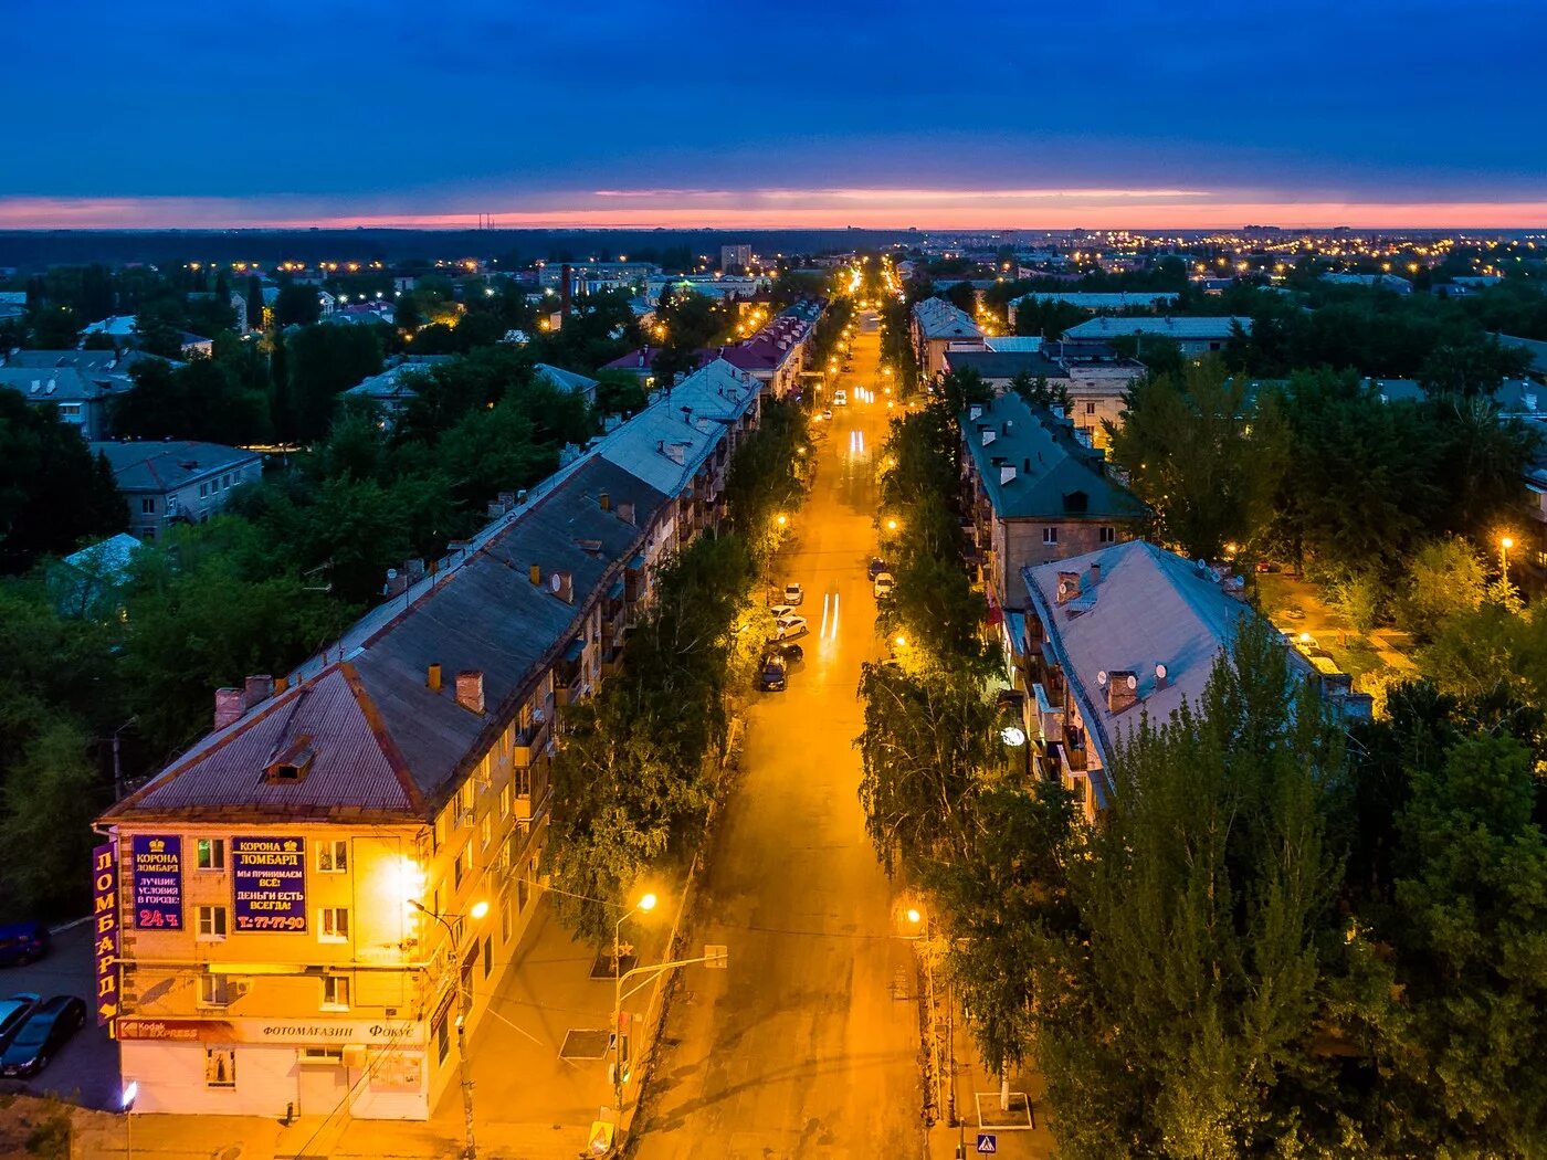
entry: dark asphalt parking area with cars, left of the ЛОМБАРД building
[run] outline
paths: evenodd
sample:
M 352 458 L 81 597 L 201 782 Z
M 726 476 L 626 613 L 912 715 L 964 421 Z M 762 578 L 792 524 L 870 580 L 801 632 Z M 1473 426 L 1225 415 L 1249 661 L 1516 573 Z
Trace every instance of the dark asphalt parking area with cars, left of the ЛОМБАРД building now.
M 17 991 L 79 995 L 91 1008 L 91 923 L 54 934 L 46 957 L 26 967 L 0 967 L 0 998 Z M 88 1016 L 48 1067 L 31 1080 L 0 1080 L 0 1092 L 57 1095 L 85 1107 L 113 1111 L 119 1103 L 118 1044 Z

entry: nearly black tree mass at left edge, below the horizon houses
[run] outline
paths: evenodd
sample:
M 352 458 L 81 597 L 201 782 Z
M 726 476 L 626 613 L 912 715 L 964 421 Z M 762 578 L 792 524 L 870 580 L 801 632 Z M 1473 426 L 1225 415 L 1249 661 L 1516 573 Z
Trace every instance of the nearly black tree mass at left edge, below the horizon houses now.
M 0 572 L 73 552 L 82 538 L 121 532 L 127 521 L 111 469 L 77 428 L 53 405 L 0 390 Z

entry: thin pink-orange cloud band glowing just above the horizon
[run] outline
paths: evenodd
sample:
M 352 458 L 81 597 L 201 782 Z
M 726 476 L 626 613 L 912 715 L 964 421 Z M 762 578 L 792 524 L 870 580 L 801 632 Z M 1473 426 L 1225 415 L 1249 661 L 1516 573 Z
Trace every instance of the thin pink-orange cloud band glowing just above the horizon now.
M 495 201 L 489 198 L 489 201 Z M 1533 229 L 1547 201 L 1231 200 L 1194 190 L 596 190 L 493 212 L 497 229 Z M 0 229 L 469 229 L 476 212 L 351 212 L 342 198 L 0 196 Z

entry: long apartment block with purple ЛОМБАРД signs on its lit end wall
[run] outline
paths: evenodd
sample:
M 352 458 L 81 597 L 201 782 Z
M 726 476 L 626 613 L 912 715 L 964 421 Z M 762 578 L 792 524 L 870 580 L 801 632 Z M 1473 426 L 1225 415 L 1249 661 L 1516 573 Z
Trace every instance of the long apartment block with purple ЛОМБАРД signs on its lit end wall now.
M 218 690 L 99 820 L 99 1016 L 138 1111 L 430 1115 L 532 913 L 555 716 L 718 520 L 758 401 L 692 376 L 291 674 Z

